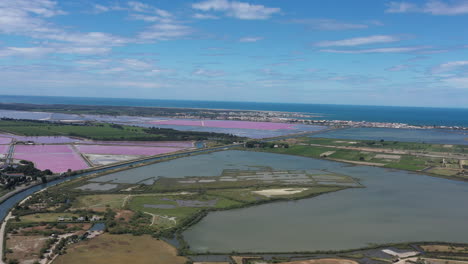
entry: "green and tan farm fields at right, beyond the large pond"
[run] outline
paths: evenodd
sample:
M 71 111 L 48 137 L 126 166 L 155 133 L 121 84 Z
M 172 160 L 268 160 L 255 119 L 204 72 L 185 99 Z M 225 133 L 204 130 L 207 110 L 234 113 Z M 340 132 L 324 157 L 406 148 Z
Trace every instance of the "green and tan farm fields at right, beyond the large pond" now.
M 468 146 L 335 138 L 290 139 L 289 148 L 256 148 L 256 151 L 323 158 L 357 165 L 424 171 L 450 178 L 468 178 L 463 164 Z M 466 165 L 465 165 L 466 167 Z

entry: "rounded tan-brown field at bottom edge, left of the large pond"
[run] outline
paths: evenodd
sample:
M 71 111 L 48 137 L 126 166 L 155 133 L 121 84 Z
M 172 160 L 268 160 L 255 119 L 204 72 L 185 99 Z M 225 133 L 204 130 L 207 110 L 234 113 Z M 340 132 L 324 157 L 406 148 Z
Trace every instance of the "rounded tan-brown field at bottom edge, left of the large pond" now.
M 185 264 L 184 257 L 164 241 L 151 236 L 103 234 L 88 241 L 71 245 L 67 254 L 54 264 Z

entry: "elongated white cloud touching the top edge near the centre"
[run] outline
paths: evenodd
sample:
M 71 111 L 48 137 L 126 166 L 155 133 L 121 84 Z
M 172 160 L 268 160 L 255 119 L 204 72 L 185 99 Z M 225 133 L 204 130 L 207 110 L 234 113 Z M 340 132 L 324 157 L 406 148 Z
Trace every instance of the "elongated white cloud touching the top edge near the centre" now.
M 276 7 L 266 7 L 264 5 L 254 5 L 246 2 L 229 0 L 206 0 L 192 4 L 192 8 L 205 12 L 224 12 L 227 16 L 246 20 L 268 19 L 281 11 L 280 8 Z

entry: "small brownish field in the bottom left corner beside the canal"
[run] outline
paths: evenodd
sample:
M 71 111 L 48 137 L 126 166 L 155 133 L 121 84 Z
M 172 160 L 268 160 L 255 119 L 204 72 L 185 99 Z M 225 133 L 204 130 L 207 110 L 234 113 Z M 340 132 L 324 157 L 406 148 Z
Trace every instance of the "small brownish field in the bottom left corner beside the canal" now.
M 40 250 L 47 239 L 44 236 L 9 236 L 6 247 L 13 253 L 8 253 L 6 257 L 8 260 L 20 260 L 21 263 L 34 263 L 39 260 Z

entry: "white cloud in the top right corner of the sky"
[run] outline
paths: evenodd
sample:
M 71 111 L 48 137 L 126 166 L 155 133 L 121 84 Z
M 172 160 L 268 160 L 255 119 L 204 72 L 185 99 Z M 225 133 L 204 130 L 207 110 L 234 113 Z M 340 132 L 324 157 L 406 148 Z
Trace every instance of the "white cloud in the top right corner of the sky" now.
M 468 1 L 460 0 L 446 3 L 444 1 L 429 0 L 423 5 L 409 2 L 390 2 L 387 13 L 419 12 L 432 15 L 463 15 L 468 14 Z

